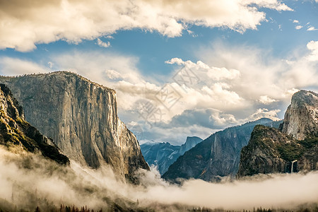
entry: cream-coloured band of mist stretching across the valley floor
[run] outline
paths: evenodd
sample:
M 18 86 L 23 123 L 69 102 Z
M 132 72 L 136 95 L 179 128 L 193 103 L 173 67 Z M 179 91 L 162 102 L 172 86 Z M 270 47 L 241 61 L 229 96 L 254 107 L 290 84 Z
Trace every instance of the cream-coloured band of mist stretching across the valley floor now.
M 0 199 L 18 208 L 65 204 L 100 209 L 120 201 L 141 208 L 181 205 L 250 210 L 318 203 L 318 172 L 257 175 L 220 183 L 189 179 L 179 185 L 160 179 L 154 167 L 136 175 L 140 184 L 131 185 L 117 180 L 109 167 L 92 170 L 73 161 L 63 167 L 21 148 L 0 148 Z

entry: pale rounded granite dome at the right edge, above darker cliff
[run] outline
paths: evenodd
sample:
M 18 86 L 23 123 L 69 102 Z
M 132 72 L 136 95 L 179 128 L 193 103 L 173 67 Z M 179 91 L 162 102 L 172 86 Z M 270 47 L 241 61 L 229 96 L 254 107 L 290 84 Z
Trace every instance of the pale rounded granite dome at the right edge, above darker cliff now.
M 285 112 L 282 131 L 303 140 L 306 136 L 318 136 L 318 95 L 312 91 L 300 90 L 293 95 Z

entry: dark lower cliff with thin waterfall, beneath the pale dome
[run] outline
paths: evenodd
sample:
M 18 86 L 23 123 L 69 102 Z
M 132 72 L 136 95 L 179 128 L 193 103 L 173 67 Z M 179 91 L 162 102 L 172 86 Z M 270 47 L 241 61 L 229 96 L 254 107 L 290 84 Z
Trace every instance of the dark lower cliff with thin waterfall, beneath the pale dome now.
M 255 174 L 307 172 L 318 168 L 316 139 L 298 141 L 268 126 L 255 126 L 242 148 L 237 177 Z

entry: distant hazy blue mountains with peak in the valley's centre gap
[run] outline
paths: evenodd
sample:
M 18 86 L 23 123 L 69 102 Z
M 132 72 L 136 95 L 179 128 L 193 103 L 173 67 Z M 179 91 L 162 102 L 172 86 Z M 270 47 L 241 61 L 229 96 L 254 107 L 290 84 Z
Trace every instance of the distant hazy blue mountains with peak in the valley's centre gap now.
M 171 145 L 170 143 L 148 142 L 141 144 L 141 152 L 149 165 L 157 166 L 161 175 L 167 171 L 169 166 L 183 155 L 186 151 L 203 141 L 199 137 L 187 137 L 182 146 Z

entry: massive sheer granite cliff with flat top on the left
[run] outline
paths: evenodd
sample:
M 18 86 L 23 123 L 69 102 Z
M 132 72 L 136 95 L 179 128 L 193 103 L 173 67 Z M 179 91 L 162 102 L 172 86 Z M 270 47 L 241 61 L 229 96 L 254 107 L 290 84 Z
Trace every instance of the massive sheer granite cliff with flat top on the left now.
M 28 122 L 71 160 L 93 168 L 109 164 L 126 178 L 149 168 L 136 136 L 117 117 L 114 90 L 66 71 L 0 81 L 22 102 Z

